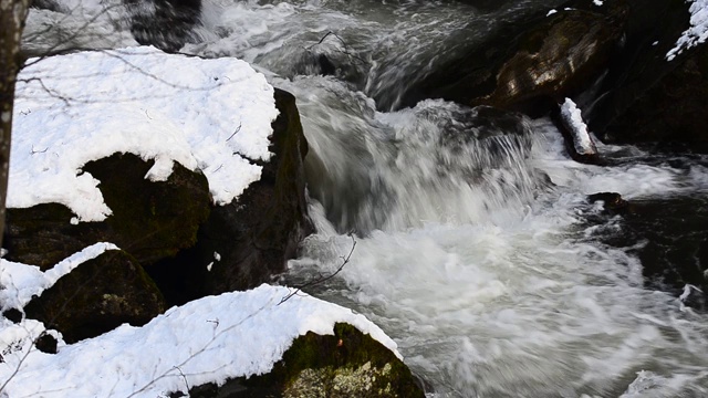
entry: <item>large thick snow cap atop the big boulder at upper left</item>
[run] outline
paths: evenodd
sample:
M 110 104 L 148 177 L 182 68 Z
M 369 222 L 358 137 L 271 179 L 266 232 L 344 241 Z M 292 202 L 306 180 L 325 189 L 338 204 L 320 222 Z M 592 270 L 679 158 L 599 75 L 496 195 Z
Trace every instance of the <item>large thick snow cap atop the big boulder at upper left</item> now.
M 174 161 L 200 169 L 215 203 L 231 202 L 260 179 L 252 160 L 270 159 L 278 115 L 272 86 L 246 62 L 149 46 L 34 62 L 15 96 L 8 207 L 59 202 L 74 221 L 111 214 L 81 168 L 114 153 L 155 159 L 150 180 L 165 180 Z

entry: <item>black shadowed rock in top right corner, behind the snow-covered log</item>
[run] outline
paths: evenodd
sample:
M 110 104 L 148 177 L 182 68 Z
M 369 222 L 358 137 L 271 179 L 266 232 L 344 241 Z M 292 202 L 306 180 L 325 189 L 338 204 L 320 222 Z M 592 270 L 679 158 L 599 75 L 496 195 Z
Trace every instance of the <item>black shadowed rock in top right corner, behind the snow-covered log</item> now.
M 581 104 L 590 127 L 610 143 L 686 143 L 708 151 L 708 51 L 700 45 L 666 57 L 689 27 L 691 3 L 631 3 L 622 51 L 597 93 Z

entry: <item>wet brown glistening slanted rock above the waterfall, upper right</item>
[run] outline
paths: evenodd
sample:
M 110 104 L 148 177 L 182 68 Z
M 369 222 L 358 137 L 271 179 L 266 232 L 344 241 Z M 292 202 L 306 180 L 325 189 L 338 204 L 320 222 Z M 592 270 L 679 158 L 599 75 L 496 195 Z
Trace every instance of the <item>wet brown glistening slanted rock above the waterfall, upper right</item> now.
M 537 14 L 502 27 L 465 55 L 441 65 L 404 95 L 404 105 L 445 98 L 537 116 L 587 88 L 615 50 L 625 13 L 580 9 Z

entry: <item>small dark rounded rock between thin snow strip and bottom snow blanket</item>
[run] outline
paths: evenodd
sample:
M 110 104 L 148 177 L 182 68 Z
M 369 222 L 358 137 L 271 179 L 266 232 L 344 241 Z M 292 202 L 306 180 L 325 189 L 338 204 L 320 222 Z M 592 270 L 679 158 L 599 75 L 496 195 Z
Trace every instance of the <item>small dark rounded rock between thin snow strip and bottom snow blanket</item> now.
M 123 323 L 142 326 L 164 311 L 153 280 L 135 258 L 121 250 L 80 264 L 24 307 L 29 318 L 61 332 L 66 343 L 101 335 Z

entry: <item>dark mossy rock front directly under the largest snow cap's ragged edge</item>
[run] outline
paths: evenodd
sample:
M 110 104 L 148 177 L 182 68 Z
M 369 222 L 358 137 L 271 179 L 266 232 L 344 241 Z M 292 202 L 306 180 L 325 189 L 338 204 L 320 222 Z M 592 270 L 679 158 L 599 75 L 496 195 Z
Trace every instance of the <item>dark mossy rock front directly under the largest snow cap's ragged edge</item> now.
M 209 213 L 207 179 L 175 164 L 166 181 L 153 182 L 145 179 L 153 164 L 115 154 L 84 166 L 101 181 L 98 188 L 113 211 L 103 222 L 73 226 L 72 211 L 58 203 L 8 209 L 7 259 L 46 270 L 87 245 L 113 242 L 149 265 L 192 247 Z

